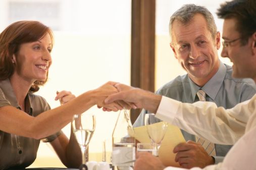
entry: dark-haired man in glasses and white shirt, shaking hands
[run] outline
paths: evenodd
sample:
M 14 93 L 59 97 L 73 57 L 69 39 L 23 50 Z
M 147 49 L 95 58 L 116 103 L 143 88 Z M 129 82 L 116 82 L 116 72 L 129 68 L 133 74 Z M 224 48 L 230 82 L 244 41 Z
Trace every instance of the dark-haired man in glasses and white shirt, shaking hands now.
M 224 19 L 222 56 L 233 62 L 232 76 L 249 77 L 256 82 L 256 1 L 227 2 L 217 14 Z M 256 168 L 256 96 L 231 109 L 224 109 L 212 102 L 181 103 L 122 84 L 115 86 L 121 92 L 109 96 L 106 103 L 118 99 L 133 102 L 138 108 L 155 112 L 159 119 L 211 142 L 236 143 L 222 163 L 204 169 Z M 164 167 L 158 158 L 148 153 L 138 154 L 134 165 L 135 170 L 164 168 L 181 169 Z

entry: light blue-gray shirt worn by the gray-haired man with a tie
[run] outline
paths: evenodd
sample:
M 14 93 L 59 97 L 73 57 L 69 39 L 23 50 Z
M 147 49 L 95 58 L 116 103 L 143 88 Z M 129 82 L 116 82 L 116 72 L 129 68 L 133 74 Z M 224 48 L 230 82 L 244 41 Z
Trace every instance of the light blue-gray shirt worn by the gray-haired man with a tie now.
M 178 76 L 174 80 L 165 84 L 156 93 L 164 95 L 182 102 L 193 103 L 198 101 L 196 92 L 202 89 L 206 92 L 206 100 L 215 102 L 218 106 L 232 108 L 237 103 L 250 99 L 256 93 L 256 86 L 252 79 L 232 78 L 232 68 L 220 62 L 218 72 L 203 86 L 197 86 L 188 75 Z M 144 125 L 144 116 L 149 113 L 142 110 L 133 127 Z M 161 120 L 156 119 L 156 122 Z M 183 130 L 185 140 L 195 141 L 195 136 Z M 231 148 L 231 145 L 215 144 L 215 163 L 223 161 L 224 156 Z

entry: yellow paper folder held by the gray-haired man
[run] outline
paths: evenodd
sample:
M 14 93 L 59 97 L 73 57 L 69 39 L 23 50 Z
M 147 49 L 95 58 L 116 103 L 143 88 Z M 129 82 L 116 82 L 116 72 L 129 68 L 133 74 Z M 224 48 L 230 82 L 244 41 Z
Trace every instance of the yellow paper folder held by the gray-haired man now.
M 163 122 L 151 124 L 150 126 L 161 126 Z M 150 138 L 147 134 L 146 126 L 134 128 L 135 138 L 140 143 L 150 143 Z M 166 166 L 180 167 L 178 162 L 175 162 L 176 154 L 173 153 L 173 148 L 182 142 L 186 142 L 180 129 L 176 126 L 168 124 L 165 137 L 159 149 L 159 158 Z

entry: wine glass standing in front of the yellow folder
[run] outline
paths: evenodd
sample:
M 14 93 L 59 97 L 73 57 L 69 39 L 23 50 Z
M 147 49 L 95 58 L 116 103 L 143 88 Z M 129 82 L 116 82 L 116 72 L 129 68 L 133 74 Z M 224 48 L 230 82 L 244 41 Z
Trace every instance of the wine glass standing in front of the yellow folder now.
M 165 137 L 166 129 L 168 124 L 166 122 L 161 122 L 159 125 L 153 125 L 156 123 L 155 114 L 145 114 L 145 125 L 147 129 L 147 134 L 151 140 L 152 145 L 156 149 L 155 156 L 159 156 L 159 148 L 161 142 Z

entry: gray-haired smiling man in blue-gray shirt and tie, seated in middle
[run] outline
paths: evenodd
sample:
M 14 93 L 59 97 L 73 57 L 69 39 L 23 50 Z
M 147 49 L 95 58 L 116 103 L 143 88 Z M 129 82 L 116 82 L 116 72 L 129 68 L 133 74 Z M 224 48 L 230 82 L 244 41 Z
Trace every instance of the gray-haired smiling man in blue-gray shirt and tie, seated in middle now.
M 167 83 L 157 94 L 193 103 L 200 99 L 198 92 L 202 91 L 205 94 L 203 100 L 225 108 L 232 108 L 254 95 L 254 82 L 232 78 L 232 68 L 219 60 L 220 33 L 206 8 L 193 4 L 183 6 L 171 16 L 169 28 L 170 46 L 187 74 Z M 224 48 L 238 40 L 226 39 Z M 143 126 L 148 112 L 142 110 L 133 126 Z M 188 142 L 179 144 L 174 151 L 177 153 L 175 161 L 185 168 L 217 164 L 231 148 L 231 145 L 211 144 L 183 130 L 182 134 Z

